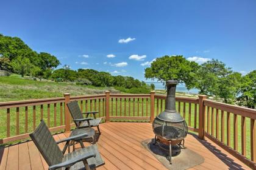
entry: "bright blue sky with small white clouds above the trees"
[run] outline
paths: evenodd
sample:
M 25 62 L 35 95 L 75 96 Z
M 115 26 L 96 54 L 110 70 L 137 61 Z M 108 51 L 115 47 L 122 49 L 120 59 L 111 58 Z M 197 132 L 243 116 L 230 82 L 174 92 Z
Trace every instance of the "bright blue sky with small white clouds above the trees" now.
M 0 4 L 0 33 L 18 36 L 75 70 L 90 68 L 144 80 L 144 68 L 163 55 L 198 62 L 215 58 L 242 73 L 256 69 L 254 0 Z

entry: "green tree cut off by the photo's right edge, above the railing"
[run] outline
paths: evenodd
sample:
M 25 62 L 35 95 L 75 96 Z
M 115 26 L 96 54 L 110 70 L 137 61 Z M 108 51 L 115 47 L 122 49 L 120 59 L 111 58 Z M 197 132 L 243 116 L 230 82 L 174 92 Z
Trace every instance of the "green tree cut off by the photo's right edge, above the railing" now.
M 256 108 L 256 70 L 242 78 L 240 95 L 237 100 L 240 106 Z

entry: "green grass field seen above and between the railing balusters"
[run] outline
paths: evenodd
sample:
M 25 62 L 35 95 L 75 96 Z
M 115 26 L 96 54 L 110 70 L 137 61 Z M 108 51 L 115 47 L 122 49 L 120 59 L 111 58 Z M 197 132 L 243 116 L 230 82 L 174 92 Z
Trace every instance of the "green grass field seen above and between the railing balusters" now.
M 31 98 L 51 98 L 51 97 L 62 97 L 64 92 L 69 92 L 71 95 L 88 95 L 88 94 L 102 94 L 105 90 L 112 90 L 105 87 L 83 87 L 83 86 L 77 86 L 75 84 L 65 84 L 65 83 L 54 83 L 54 82 L 38 82 L 33 80 L 24 80 L 21 78 L 6 78 L 6 77 L 0 77 L 0 101 L 15 101 L 15 100 L 26 100 Z M 139 107 L 138 107 L 139 103 Z M 135 116 L 142 116 L 142 101 L 137 99 L 135 100 Z M 155 115 L 157 114 L 157 107 L 156 107 L 156 100 L 155 100 Z M 163 100 L 163 106 L 162 110 L 165 107 L 165 101 Z M 83 103 L 84 105 L 84 111 L 85 111 L 85 101 Z M 88 111 L 90 110 L 99 110 L 99 101 L 96 101 L 96 108 L 94 108 L 94 100 L 91 104 L 93 107 L 90 108 L 90 104 L 88 104 Z M 103 110 L 105 110 L 105 107 L 101 102 L 101 109 L 100 109 L 100 116 L 104 116 Z M 115 116 L 116 114 L 118 116 L 124 116 L 124 99 L 122 100 L 121 107 L 122 110 L 120 112 L 120 101 L 118 100 L 117 107 L 116 107 L 116 101 L 113 100 L 113 111 L 112 111 L 112 103 L 110 102 L 110 115 Z M 178 110 L 178 104 L 176 103 L 176 109 Z M 146 100 L 143 102 L 143 116 L 146 116 Z M 159 110 L 160 113 L 160 102 L 159 102 Z M 33 110 L 32 106 L 28 107 L 28 132 L 33 131 Z M 44 113 L 43 118 L 47 122 L 47 105 L 43 105 Z M 117 112 L 116 112 L 117 109 Z M 56 126 L 60 126 L 60 104 L 57 103 L 56 107 Z M 64 109 L 63 109 L 64 110 Z M 211 128 L 212 128 L 212 108 L 210 108 L 210 132 L 209 134 L 212 134 Z M 198 105 L 197 105 L 197 124 L 196 127 L 198 127 Z M 183 115 L 183 103 L 180 103 L 180 112 Z M 216 110 L 215 110 L 216 112 Z M 51 104 L 50 106 L 50 124 L 51 127 L 54 127 L 54 104 Z M 186 121 L 188 123 L 188 103 L 186 103 L 185 107 L 185 113 L 186 113 Z M 207 110 L 206 110 L 207 113 Z M 40 121 L 41 117 L 40 112 L 40 106 L 36 107 L 36 114 L 35 114 L 35 120 L 36 120 L 36 126 Z M 227 144 L 227 116 L 226 112 L 224 112 L 224 122 L 225 122 L 225 141 L 224 143 Z M 6 109 L 0 109 L 0 138 L 6 137 Z M 126 116 L 129 115 L 129 104 L 128 99 L 126 103 Z M 133 102 L 130 104 L 130 115 L 133 115 Z M 150 115 L 150 100 L 148 101 L 148 116 Z M 207 116 L 207 115 L 206 115 Z M 20 107 L 20 114 L 19 114 L 19 120 L 20 120 L 20 134 L 25 133 L 25 108 Z M 230 124 L 231 124 L 231 144 L 230 146 L 233 148 L 233 114 L 230 114 Z M 64 111 L 63 111 L 63 123 L 64 123 Z M 132 121 L 132 120 L 130 120 Z M 216 123 L 216 113 L 215 113 L 215 123 Z M 207 124 L 207 122 L 205 123 Z M 194 127 L 194 104 L 191 104 L 191 127 Z M 221 135 L 221 112 L 219 111 L 219 138 Z M 207 127 L 205 131 L 207 131 Z M 213 132 L 213 136 L 215 136 L 216 127 Z M 10 109 L 10 136 L 16 135 L 16 108 Z M 246 118 L 246 145 L 247 145 L 247 158 L 251 158 L 251 145 L 250 145 L 250 120 L 249 118 Z M 238 151 L 241 153 L 241 116 L 238 116 Z

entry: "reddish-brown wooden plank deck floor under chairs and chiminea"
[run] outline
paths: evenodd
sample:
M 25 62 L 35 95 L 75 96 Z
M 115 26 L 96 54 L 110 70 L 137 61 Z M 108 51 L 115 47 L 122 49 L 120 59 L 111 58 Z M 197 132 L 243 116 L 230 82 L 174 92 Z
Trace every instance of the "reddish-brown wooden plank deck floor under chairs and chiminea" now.
M 99 151 L 105 160 L 100 169 L 166 169 L 141 141 L 154 138 L 149 123 L 104 123 L 98 141 Z M 68 137 L 68 133 L 54 135 L 55 140 Z M 250 169 L 241 161 L 206 139 L 188 135 L 185 145 L 205 158 L 204 163 L 191 169 Z M 60 145 L 63 147 L 63 144 Z M 48 169 L 32 141 L 0 149 L 0 169 Z

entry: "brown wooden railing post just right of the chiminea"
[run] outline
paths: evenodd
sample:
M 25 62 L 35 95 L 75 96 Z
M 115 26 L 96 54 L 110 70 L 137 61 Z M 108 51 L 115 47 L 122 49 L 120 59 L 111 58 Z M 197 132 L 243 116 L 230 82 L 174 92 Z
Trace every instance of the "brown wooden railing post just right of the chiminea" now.
M 204 139 L 204 123 L 205 123 L 205 106 L 204 100 L 207 98 L 206 95 L 199 95 L 199 127 L 198 137 Z

